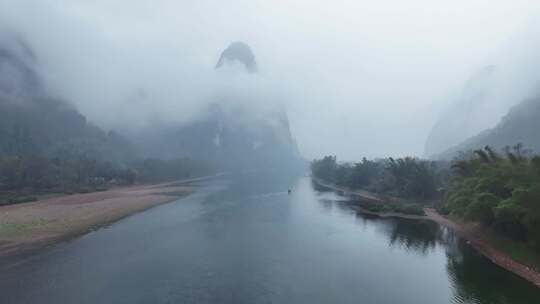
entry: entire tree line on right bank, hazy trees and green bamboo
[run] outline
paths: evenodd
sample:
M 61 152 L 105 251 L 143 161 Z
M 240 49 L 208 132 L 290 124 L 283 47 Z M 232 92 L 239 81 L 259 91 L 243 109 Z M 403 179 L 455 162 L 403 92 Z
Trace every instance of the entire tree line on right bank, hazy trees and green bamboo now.
M 412 157 L 311 163 L 316 178 L 351 189 L 435 202 L 439 213 L 483 224 L 540 251 L 540 156 L 517 144 L 461 153 L 452 162 Z

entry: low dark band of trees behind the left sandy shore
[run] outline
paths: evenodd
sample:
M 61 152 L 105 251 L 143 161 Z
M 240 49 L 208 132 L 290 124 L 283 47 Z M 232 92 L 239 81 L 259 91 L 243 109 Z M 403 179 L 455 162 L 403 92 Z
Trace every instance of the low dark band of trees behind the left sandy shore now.
M 84 155 L 66 158 L 0 156 L 0 205 L 36 201 L 47 193 L 88 193 L 109 186 L 161 182 L 214 173 L 206 162 L 189 158 L 145 159 L 127 164 Z

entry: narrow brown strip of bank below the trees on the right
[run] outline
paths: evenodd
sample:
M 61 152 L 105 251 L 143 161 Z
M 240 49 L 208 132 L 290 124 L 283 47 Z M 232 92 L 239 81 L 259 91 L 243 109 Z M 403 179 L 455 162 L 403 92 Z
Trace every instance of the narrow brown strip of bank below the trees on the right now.
M 327 187 L 335 191 L 341 191 L 349 195 L 369 199 L 370 201 L 376 201 L 381 204 L 385 203 L 385 201 L 381 197 L 377 197 L 375 194 L 369 193 L 367 191 L 351 191 L 348 189 L 343 189 L 333 186 L 331 184 L 324 183 L 316 178 L 313 178 L 313 181 L 323 187 Z M 373 198 L 376 198 L 377 200 L 374 200 Z M 476 251 L 490 259 L 496 265 L 522 277 L 523 279 L 533 283 L 535 286 L 540 287 L 540 271 L 538 269 L 534 269 L 532 266 L 528 266 L 516 261 L 510 255 L 495 248 L 495 246 L 489 241 L 490 238 L 487 236 L 487 233 L 483 231 L 483 229 L 481 229 L 481 227 L 477 224 L 457 223 L 445 216 L 440 215 L 432 208 L 424 208 L 424 212 L 426 214 L 425 216 L 400 214 L 394 212 L 371 212 L 361 207 L 358 207 L 356 209 L 360 212 L 377 215 L 380 217 L 399 217 L 407 219 L 434 221 L 441 226 L 447 227 L 455 231 L 461 238 L 465 239 L 467 243 L 472 246 Z

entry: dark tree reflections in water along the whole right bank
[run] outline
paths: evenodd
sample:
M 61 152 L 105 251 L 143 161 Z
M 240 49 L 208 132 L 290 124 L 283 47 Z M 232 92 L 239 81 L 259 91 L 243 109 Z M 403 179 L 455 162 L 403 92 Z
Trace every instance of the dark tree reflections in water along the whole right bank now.
M 319 204 L 325 209 L 340 208 L 352 212 L 363 226 L 374 226 L 388 240 L 389 248 L 428 256 L 443 250 L 446 273 L 451 288 L 451 302 L 456 304 L 532 304 L 538 303 L 540 291 L 520 277 L 498 267 L 459 238 L 451 229 L 428 220 L 384 218 L 363 213 L 358 203 L 324 187 L 314 187 Z M 330 197 L 330 198 L 329 198 Z

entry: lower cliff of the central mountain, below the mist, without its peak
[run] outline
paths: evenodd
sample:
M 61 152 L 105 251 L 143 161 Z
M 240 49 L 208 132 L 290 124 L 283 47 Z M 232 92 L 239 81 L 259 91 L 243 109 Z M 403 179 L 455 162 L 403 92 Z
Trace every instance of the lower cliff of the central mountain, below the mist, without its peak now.
M 272 168 L 299 160 L 285 112 L 257 114 L 242 105 L 211 105 L 179 130 L 184 153 L 223 160 L 229 168 Z

